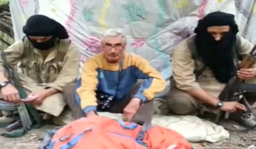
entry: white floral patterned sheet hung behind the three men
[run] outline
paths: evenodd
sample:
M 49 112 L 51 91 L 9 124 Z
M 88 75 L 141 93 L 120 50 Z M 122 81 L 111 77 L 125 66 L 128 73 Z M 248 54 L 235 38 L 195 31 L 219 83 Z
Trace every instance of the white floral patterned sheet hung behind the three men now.
M 256 43 L 255 1 L 16 0 L 10 1 L 10 8 L 15 40 L 24 36 L 22 26 L 31 15 L 44 14 L 63 24 L 80 49 L 81 67 L 89 56 L 100 52 L 105 30 L 122 28 L 127 35 L 127 52 L 146 58 L 168 81 L 172 50 L 212 11 L 236 15 L 238 34 Z

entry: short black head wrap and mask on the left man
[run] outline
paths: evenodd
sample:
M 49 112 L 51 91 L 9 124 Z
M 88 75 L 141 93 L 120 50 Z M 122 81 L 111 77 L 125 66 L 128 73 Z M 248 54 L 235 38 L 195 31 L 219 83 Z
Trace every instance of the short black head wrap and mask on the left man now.
M 28 40 L 30 40 L 28 36 L 52 36 L 51 39 L 42 43 L 30 40 L 33 47 L 40 50 L 52 48 L 57 38 L 66 39 L 69 37 L 64 26 L 62 26 L 59 22 L 56 22 L 56 20 L 48 18 L 44 15 L 30 16 L 26 22 L 26 25 L 23 26 L 23 32 L 26 34 Z

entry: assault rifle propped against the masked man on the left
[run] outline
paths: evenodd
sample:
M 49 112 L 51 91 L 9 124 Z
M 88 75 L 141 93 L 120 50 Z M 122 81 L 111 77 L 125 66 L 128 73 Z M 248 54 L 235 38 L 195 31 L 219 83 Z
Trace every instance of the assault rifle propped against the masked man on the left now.
M 25 99 L 25 98 L 27 98 L 27 93 L 23 89 L 22 84 L 19 80 L 19 77 L 18 77 L 14 67 L 8 63 L 8 61 L 6 59 L 6 54 L 9 54 L 9 53 L 5 53 L 5 52 L 1 51 L 3 67 L 5 67 L 5 71 L 7 72 L 9 81 L 11 81 L 12 84 L 15 86 L 15 88 L 19 91 L 20 98 Z M 23 128 L 30 129 L 30 127 L 32 125 L 32 121 L 31 121 L 30 114 L 28 113 L 26 104 L 24 104 L 23 102 L 20 102 L 19 104 L 16 104 L 16 106 L 19 111 L 19 116 L 20 116 L 20 120 L 22 122 Z

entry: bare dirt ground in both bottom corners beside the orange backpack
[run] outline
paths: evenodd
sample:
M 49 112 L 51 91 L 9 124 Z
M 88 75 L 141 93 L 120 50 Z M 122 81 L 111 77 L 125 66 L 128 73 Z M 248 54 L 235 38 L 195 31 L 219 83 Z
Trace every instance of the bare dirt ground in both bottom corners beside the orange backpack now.
M 256 105 L 253 107 L 256 110 Z M 232 122 L 223 122 L 222 126 L 230 130 L 242 129 L 241 126 Z M 6 138 L 0 136 L 0 149 L 35 149 L 42 143 L 44 131 L 53 130 L 56 126 L 46 125 L 40 129 L 33 129 L 28 134 L 20 138 Z M 2 132 L 3 129 L 0 129 Z M 256 129 L 240 133 L 238 131 L 230 131 L 230 138 L 223 142 L 209 143 L 197 142 L 192 143 L 195 149 L 256 149 Z

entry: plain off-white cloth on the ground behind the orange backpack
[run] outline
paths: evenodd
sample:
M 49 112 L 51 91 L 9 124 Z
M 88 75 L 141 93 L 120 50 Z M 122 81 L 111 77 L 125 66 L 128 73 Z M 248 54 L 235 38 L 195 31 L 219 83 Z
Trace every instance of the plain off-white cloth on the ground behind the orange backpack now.
M 104 117 L 122 120 L 122 114 L 100 112 Z M 189 142 L 205 140 L 218 142 L 229 138 L 229 132 L 222 126 L 196 116 L 154 115 L 152 125 L 166 127 L 183 135 Z

